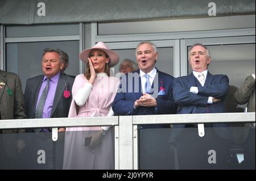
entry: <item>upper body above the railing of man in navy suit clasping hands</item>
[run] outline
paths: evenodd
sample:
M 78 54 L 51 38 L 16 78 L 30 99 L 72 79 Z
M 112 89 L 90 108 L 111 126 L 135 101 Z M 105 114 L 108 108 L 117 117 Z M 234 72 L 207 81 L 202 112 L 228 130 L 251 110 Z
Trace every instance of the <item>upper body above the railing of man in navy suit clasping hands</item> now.
M 155 68 L 158 58 L 156 45 L 150 41 L 139 43 L 136 49 L 139 70 L 122 77 L 112 108 L 115 115 L 157 115 L 176 113 L 172 98 L 174 77 Z M 146 78 L 151 90 L 146 92 Z

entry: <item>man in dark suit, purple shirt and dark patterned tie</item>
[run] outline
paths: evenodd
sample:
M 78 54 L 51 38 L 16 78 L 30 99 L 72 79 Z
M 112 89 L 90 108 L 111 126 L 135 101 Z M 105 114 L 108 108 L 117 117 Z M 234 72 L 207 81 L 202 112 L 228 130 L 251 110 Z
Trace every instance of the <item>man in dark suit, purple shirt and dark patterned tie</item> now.
M 44 49 L 42 58 L 42 70 L 44 75 L 30 78 L 26 83 L 25 105 L 28 119 L 68 117 L 69 107 L 72 101 L 72 86 L 75 78 L 61 72 L 64 66 L 63 53 L 59 49 Z M 47 90 L 47 91 L 45 91 Z M 46 93 L 47 92 L 47 93 Z M 44 97 L 44 101 L 42 98 Z M 42 104 L 44 102 L 44 104 Z M 40 111 L 39 111 L 40 110 Z M 40 113 L 39 113 L 40 112 Z M 64 128 L 59 128 L 64 131 Z M 64 134 L 59 133 L 58 140 L 53 142 L 48 128 L 33 129 L 31 147 L 28 147 L 32 155 L 28 169 L 60 169 L 63 159 Z M 44 150 L 46 162 L 39 162 L 38 151 Z

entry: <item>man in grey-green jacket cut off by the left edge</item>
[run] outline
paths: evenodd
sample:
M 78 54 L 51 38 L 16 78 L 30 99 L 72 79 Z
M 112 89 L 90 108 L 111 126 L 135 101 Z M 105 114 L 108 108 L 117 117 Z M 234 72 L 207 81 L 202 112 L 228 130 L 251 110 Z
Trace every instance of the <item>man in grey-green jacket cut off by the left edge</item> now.
M 0 121 L 6 119 L 24 119 L 24 95 L 19 76 L 0 70 Z M 0 130 L 0 169 L 14 169 L 16 158 L 24 148 L 24 141 L 16 134 L 24 129 Z

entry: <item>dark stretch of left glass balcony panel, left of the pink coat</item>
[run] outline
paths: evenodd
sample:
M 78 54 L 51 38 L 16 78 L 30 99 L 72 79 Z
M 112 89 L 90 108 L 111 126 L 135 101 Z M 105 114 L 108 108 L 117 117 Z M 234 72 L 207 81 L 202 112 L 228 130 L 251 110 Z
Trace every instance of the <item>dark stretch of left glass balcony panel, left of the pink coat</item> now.
M 63 150 L 64 132 L 0 134 L 0 169 L 62 169 Z

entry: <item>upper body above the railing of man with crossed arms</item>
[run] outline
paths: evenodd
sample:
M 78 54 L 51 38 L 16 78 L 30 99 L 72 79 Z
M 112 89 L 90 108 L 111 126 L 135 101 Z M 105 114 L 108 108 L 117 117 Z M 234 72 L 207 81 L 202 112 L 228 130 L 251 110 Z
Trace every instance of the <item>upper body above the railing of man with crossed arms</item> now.
M 229 92 L 226 75 L 212 75 L 207 70 L 211 61 L 210 52 L 202 44 L 195 44 L 189 51 L 192 73 L 174 79 L 174 100 L 177 113 L 221 113 L 226 112 L 225 96 Z M 202 74 L 200 74 L 202 73 Z M 198 77 L 204 77 L 200 83 Z

